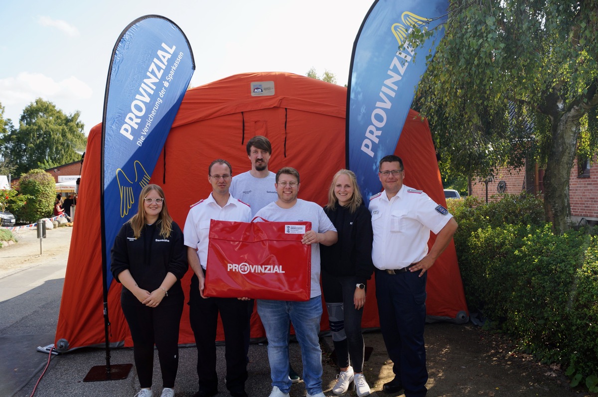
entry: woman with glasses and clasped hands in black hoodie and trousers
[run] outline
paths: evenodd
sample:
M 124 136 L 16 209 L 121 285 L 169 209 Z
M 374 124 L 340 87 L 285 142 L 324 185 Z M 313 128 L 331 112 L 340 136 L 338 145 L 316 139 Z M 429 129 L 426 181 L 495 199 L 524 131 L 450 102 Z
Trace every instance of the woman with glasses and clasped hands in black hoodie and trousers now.
M 123 284 L 120 301 L 133 338 L 139 397 L 152 397 L 154 344 L 162 372 L 161 397 L 175 395 L 184 304 L 180 280 L 188 266 L 183 240 L 163 190 L 147 185 L 139 195 L 138 212 L 123 225 L 112 247 L 111 271 Z

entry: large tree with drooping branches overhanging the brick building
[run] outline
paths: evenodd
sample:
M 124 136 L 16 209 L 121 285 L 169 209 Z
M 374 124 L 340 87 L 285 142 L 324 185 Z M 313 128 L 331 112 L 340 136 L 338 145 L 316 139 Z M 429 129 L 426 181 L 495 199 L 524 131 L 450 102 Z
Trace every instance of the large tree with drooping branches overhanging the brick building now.
M 598 148 L 598 3 L 453 0 L 444 27 L 417 105 L 448 168 L 485 178 L 526 157 L 545 164 L 545 215 L 563 233 L 578 143 Z

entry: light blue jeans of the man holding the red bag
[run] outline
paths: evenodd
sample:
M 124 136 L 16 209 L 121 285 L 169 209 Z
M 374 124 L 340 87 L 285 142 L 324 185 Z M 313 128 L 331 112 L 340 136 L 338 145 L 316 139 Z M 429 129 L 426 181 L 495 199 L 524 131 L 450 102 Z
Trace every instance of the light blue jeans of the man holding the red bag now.
M 258 314 L 268 338 L 268 360 L 272 386 L 283 393 L 291 390 L 289 379 L 289 322 L 301 348 L 303 380 L 307 393 L 322 392 L 322 350 L 319 337 L 321 297 L 305 302 L 258 300 Z

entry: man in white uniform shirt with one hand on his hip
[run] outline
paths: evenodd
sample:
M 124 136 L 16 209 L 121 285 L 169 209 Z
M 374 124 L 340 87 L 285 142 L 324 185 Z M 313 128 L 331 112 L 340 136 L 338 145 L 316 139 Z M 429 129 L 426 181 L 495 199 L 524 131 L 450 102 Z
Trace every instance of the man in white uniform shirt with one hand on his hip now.
M 383 157 L 378 175 L 384 191 L 370 198 L 372 260 L 380 329 L 395 372 L 383 390 L 404 389 L 405 397 L 423 397 L 428 391 L 423 340 L 426 271 L 449 245 L 457 222 L 427 194 L 403 185 L 401 158 Z M 430 231 L 437 237 L 428 252 Z

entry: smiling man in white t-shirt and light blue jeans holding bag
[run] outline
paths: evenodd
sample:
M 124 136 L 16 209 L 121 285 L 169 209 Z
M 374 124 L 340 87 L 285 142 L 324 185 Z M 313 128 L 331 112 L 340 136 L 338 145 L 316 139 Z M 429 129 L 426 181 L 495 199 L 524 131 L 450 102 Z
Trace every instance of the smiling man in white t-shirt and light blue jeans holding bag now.
M 324 397 L 322 392 L 322 351 L 319 345 L 322 294 L 320 289 L 320 244 L 337 242 L 337 231 L 321 206 L 297 198 L 299 173 L 284 167 L 276 173 L 278 199 L 257 212 L 267 221 L 305 221 L 312 223 L 312 230 L 303 235 L 301 242 L 312 245 L 312 280 L 310 300 L 274 301 L 258 300 L 258 313 L 268 338 L 268 361 L 272 378 L 270 397 L 288 397 L 291 390 L 289 378 L 288 329 L 292 322 L 301 347 L 303 380 L 307 397 Z

